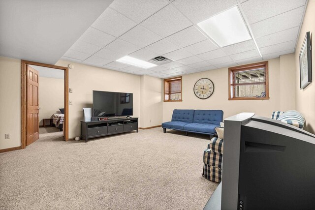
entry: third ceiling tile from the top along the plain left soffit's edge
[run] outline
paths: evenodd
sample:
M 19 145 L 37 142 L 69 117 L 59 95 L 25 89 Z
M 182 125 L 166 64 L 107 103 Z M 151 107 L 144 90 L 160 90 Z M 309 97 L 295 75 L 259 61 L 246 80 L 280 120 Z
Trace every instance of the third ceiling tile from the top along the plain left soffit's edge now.
M 79 40 L 94 44 L 99 47 L 105 47 L 110 42 L 114 41 L 114 39 L 116 39 L 115 36 L 90 27 L 83 33 Z

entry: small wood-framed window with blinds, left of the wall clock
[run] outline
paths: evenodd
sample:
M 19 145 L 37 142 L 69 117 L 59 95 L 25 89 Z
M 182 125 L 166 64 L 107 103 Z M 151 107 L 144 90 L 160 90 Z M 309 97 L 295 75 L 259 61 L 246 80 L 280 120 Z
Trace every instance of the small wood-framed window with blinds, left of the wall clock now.
M 182 77 L 164 79 L 164 101 L 182 101 Z

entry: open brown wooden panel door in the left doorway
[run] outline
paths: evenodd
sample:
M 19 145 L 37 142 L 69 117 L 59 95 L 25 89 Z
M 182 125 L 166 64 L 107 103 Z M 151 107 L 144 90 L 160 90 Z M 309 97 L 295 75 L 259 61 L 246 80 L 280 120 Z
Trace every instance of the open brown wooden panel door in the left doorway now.
M 29 146 L 39 138 L 39 74 L 31 66 L 27 68 L 27 139 L 26 146 Z

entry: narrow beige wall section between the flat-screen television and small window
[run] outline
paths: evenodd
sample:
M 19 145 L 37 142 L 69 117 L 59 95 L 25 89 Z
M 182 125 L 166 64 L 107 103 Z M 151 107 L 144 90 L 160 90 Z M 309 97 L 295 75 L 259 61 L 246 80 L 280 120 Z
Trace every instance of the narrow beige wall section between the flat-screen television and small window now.
M 162 123 L 163 80 L 141 76 L 141 126 L 152 127 Z

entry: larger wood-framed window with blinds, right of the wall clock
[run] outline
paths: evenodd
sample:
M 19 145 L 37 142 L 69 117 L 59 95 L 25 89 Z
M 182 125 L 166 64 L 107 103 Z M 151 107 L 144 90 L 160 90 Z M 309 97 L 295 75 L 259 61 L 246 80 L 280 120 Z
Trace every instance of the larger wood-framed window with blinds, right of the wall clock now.
M 268 61 L 228 70 L 229 100 L 269 99 Z

